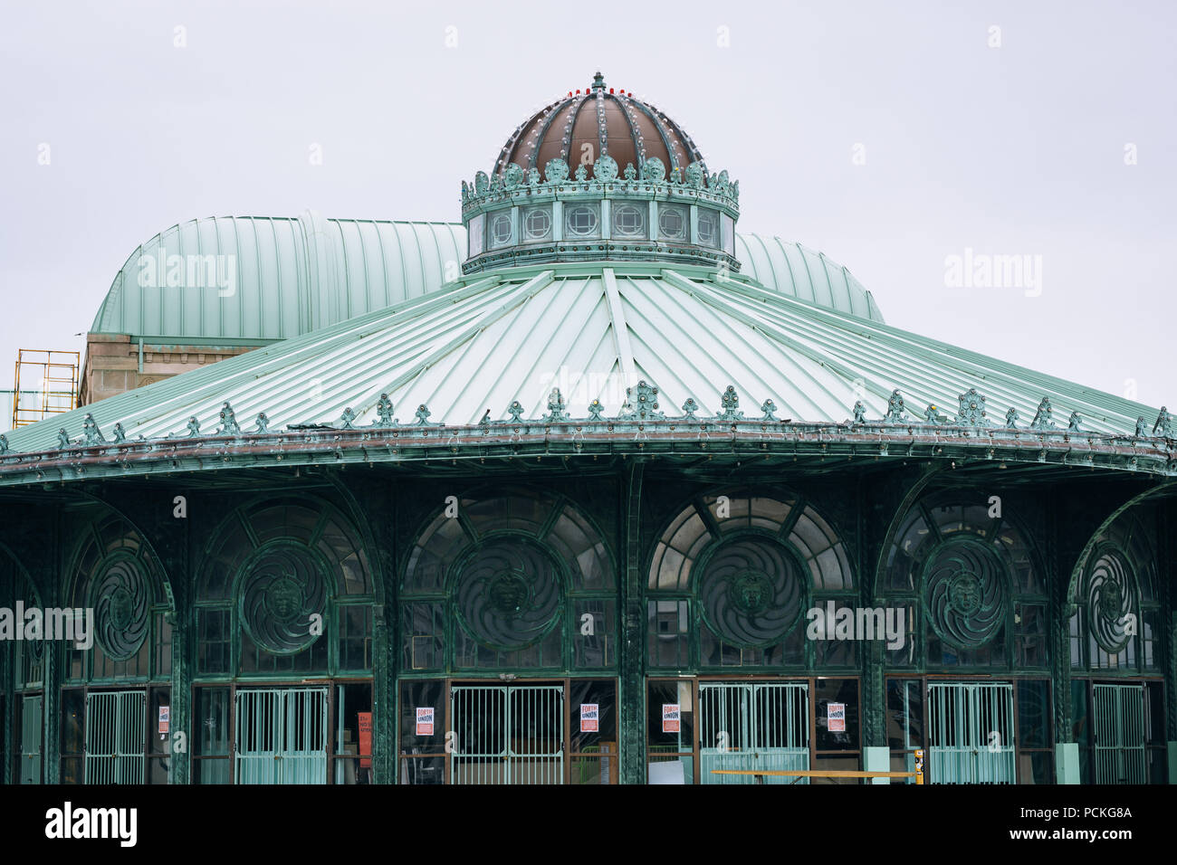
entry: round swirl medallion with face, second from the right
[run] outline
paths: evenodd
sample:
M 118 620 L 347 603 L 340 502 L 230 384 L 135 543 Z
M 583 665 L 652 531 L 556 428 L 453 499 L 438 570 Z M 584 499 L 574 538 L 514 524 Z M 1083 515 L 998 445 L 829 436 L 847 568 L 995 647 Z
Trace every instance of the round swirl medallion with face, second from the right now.
M 932 627 L 956 648 L 989 643 L 1005 623 L 1002 561 L 986 547 L 949 541 L 927 563 L 927 614 Z

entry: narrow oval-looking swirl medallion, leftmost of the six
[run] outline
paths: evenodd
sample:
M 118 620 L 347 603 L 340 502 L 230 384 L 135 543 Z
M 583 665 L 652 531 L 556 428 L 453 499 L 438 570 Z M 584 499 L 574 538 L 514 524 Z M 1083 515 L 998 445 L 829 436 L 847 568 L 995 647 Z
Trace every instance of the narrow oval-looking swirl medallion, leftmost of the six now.
M 95 638 L 113 660 L 127 660 L 151 628 L 151 580 L 134 555 L 115 552 L 102 559 L 89 584 Z

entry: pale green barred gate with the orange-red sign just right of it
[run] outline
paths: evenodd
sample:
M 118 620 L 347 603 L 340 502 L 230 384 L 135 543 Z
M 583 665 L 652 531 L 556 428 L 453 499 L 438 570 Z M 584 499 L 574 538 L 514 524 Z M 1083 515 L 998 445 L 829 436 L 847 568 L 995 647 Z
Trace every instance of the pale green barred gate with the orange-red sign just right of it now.
M 238 784 L 327 783 L 327 688 L 237 692 Z

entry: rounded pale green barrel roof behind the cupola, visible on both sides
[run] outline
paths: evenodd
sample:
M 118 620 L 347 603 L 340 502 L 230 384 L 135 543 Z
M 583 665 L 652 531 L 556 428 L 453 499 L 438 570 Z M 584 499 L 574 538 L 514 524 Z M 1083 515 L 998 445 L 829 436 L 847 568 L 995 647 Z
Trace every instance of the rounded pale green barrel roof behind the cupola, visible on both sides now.
M 737 235 L 736 254 L 742 272 L 770 290 L 883 320 L 858 280 L 820 253 L 746 234 Z M 197 258 L 207 255 L 219 258 Z M 169 265 L 169 257 L 180 258 Z M 131 254 L 91 331 L 177 342 L 288 339 L 437 291 L 460 275 L 465 257 L 466 232 L 452 222 L 324 219 L 310 211 L 297 219 L 194 219 Z M 232 285 L 220 287 L 217 277 L 230 271 L 222 281 Z M 185 285 L 169 287 L 169 272 Z

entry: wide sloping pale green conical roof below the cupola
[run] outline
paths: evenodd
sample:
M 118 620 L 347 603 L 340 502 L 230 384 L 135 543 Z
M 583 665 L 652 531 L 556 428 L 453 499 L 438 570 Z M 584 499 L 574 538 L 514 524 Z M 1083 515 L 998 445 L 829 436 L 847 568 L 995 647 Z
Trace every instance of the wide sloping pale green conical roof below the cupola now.
M 80 440 L 87 412 L 107 440 L 115 422 L 127 439 L 184 438 L 189 418 L 207 435 L 225 402 L 242 431 L 253 430 L 259 413 L 273 431 L 339 424 L 348 410 L 345 422 L 359 427 L 381 418 L 383 394 L 404 424 L 414 417 L 476 424 L 487 412 L 493 420 L 538 419 L 551 411 L 553 388 L 573 418 L 616 417 L 626 388 L 640 380 L 659 388 L 669 417 L 690 413 L 679 411 L 687 400 L 699 417 L 714 417 L 732 407 L 734 395 L 749 417 L 771 400 L 778 420 L 885 418 L 897 435 L 919 426 L 930 405 L 942 424 L 956 422 L 956 415 L 966 426 L 997 431 L 1006 427 L 1009 408 L 1022 431 L 1036 415 L 1043 427 L 1065 431 L 1077 412 L 1082 431 L 1125 437 L 1139 415 L 1150 425 L 1157 417 L 1155 408 L 744 278 L 606 262 L 468 277 L 425 298 L 22 427 L 8 434 L 8 446 L 54 448 L 59 427 Z

